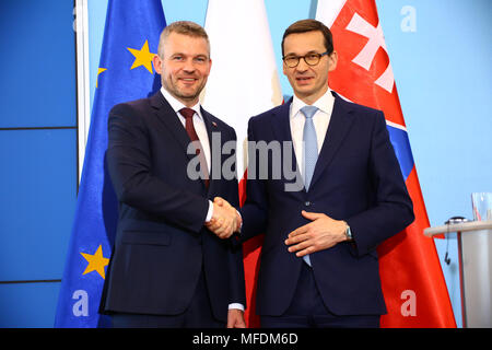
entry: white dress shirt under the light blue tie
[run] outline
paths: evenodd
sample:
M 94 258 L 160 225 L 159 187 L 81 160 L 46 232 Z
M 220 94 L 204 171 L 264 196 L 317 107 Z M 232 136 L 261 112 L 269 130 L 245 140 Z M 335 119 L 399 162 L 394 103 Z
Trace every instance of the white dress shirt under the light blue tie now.
M 318 107 L 318 110 L 316 110 L 313 116 L 313 124 L 316 130 L 316 140 L 318 142 L 318 154 L 321 151 L 323 142 L 325 142 L 325 136 L 328 130 L 328 125 L 330 124 L 333 104 L 335 97 L 328 89 L 328 91 L 312 105 Z M 294 95 L 289 114 L 292 143 L 294 147 L 295 158 L 297 160 L 297 167 L 302 176 L 304 176 L 304 167 L 302 166 L 302 164 L 304 164 L 303 131 L 306 117 L 301 112 L 301 108 L 304 106 L 307 106 L 306 103 Z

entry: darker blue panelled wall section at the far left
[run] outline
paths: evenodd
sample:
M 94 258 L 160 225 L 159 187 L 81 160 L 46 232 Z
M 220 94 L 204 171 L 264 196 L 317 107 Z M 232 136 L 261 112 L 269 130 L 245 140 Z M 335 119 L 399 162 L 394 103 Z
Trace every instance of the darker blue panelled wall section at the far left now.
M 0 1 L 0 327 L 51 327 L 77 200 L 72 1 Z

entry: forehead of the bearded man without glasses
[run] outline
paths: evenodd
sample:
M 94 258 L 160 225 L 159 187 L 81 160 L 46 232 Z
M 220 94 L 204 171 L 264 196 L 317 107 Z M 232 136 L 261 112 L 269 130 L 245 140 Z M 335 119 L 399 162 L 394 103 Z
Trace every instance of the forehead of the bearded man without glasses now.
M 210 55 L 209 43 L 200 36 L 191 36 L 179 33 L 171 33 L 164 39 L 164 55 L 186 54 L 190 56 Z

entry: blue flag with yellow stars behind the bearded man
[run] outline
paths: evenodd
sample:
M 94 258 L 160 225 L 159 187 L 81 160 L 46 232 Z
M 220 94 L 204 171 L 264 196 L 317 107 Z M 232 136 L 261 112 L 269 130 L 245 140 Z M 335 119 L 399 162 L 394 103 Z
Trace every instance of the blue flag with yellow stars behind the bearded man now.
M 161 88 L 152 66 L 165 27 L 161 0 L 109 0 L 96 92 L 55 327 L 105 327 L 98 314 L 118 203 L 105 168 L 107 117 L 121 102 Z

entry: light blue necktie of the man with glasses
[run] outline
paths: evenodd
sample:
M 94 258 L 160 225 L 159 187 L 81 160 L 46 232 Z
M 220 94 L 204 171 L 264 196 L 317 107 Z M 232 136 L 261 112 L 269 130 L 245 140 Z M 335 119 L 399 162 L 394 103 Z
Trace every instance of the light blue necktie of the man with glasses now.
M 304 141 L 304 186 L 306 191 L 309 189 L 311 179 L 313 178 L 316 161 L 318 160 L 318 141 L 316 138 L 316 129 L 314 127 L 313 117 L 318 110 L 315 106 L 304 106 L 301 108 L 302 114 L 306 117 L 304 122 L 303 141 Z M 303 256 L 304 261 L 311 266 L 309 255 Z

